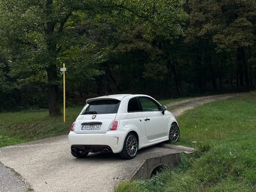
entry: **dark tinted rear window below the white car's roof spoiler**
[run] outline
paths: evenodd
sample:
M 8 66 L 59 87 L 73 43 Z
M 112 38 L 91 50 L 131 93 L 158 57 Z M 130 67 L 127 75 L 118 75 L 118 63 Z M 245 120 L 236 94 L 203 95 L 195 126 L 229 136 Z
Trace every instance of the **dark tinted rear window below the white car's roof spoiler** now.
M 87 103 L 83 114 L 116 114 L 120 105 L 117 99 L 102 99 Z

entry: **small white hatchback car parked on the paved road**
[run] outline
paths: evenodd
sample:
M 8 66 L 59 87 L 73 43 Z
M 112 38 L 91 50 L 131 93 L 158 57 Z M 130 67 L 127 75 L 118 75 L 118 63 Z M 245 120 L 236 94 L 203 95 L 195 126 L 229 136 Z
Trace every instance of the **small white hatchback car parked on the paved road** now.
M 157 100 L 118 94 L 87 99 L 70 128 L 69 144 L 78 158 L 103 151 L 132 159 L 141 148 L 177 142 L 179 136 L 177 120 Z

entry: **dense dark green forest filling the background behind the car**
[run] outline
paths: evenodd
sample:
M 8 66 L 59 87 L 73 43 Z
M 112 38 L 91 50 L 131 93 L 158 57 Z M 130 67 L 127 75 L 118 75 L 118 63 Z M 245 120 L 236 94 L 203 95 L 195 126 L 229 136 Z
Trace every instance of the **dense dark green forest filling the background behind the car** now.
M 0 111 L 255 89 L 254 0 L 1 0 Z

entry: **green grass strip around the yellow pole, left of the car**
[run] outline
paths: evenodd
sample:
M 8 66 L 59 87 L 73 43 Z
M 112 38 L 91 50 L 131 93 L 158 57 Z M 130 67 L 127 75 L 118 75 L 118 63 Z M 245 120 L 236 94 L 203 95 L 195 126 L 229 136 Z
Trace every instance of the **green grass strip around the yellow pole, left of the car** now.
M 49 117 L 47 109 L 1 113 L 0 147 L 67 134 L 81 109 L 66 108 L 66 123 L 62 116 Z

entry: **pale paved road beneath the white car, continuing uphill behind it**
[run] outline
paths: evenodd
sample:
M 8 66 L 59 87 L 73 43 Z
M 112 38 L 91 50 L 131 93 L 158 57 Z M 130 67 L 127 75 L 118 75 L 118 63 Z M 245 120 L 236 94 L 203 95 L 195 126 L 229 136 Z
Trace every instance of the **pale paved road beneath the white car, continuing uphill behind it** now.
M 172 113 L 177 117 L 197 105 L 227 97 L 187 99 Z M 146 158 L 184 149 L 155 145 L 139 151 L 133 160 L 120 160 L 117 154 L 89 154 L 76 159 L 69 151 L 67 136 L 0 148 L 0 162 L 5 165 L 0 163 L 0 191 L 112 191 L 120 181 L 132 178 Z

